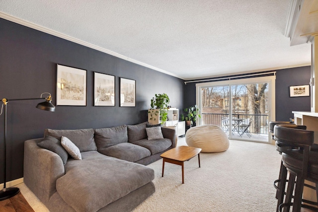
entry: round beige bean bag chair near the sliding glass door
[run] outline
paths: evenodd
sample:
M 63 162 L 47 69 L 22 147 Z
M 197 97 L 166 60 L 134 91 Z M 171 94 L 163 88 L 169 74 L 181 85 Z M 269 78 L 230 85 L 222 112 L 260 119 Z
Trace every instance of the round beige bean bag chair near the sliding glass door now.
M 230 141 L 225 132 L 215 125 L 190 128 L 185 134 L 188 146 L 202 148 L 201 152 L 220 152 L 229 148 Z

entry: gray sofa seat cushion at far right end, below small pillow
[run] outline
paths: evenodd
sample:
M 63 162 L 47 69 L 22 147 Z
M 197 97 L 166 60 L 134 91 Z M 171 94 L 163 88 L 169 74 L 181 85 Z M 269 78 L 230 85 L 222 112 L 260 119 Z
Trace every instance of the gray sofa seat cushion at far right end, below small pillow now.
M 155 139 L 155 140 L 142 139 L 139 141 L 134 141 L 133 143 L 143 146 L 145 148 L 148 148 L 151 151 L 151 154 L 156 154 L 158 152 L 161 152 L 172 145 L 172 142 L 170 139 Z

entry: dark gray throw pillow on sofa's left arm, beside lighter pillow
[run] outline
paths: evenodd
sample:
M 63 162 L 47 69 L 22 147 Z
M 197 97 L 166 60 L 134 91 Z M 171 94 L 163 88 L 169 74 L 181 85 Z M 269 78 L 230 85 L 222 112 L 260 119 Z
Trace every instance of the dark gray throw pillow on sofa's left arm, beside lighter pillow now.
M 63 148 L 61 141 L 59 141 L 58 139 L 52 137 L 52 136 L 45 136 L 45 139 L 39 143 L 37 143 L 37 145 L 41 148 L 45 148 L 48 149 L 50 151 L 53 151 L 55 153 L 57 153 L 63 161 L 63 164 L 65 165 L 69 154 L 68 152 Z

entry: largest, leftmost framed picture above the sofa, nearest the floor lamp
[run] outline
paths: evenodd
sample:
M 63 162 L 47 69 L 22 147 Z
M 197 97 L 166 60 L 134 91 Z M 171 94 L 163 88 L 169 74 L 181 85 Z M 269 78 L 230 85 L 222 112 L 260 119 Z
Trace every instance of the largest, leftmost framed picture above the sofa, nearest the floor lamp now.
M 86 106 L 86 72 L 57 65 L 56 105 Z

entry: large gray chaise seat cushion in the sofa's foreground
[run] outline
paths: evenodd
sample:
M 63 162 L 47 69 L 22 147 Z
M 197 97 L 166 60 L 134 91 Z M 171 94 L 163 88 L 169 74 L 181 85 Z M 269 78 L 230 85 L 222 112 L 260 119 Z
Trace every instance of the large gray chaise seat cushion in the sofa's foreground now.
M 82 160 L 70 158 L 65 175 L 56 181 L 59 195 L 77 212 L 96 212 L 155 178 L 147 166 L 97 151 L 81 156 Z

